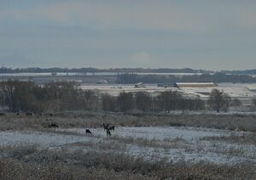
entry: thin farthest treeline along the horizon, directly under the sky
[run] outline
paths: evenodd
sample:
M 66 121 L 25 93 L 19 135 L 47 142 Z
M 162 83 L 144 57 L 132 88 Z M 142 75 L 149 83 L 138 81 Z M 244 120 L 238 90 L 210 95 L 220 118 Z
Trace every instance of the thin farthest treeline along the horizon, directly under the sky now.
M 131 73 L 131 72 L 144 72 L 144 73 L 216 73 L 221 72 L 224 74 L 234 74 L 234 75 L 256 75 L 255 70 L 194 70 L 191 68 L 182 68 L 182 69 L 171 69 L 171 68 L 157 68 L 157 69 L 150 69 L 150 68 L 109 68 L 109 69 L 97 69 L 97 68 L 38 68 L 38 67 L 31 67 L 31 68 L 7 68 L 2 67 L 0 68 L 0 73 L 44 73 L 44 72 L 116 72 L 116 73 Z

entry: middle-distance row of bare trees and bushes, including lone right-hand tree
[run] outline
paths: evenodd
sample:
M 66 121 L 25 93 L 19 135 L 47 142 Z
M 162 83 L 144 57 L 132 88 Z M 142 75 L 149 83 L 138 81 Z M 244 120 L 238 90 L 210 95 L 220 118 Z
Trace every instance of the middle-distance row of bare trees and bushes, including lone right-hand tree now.
M 0 107 L 11 112 L 58 113 L 66 110 L 105 112 L 170 112 L 171 110 L 227 111 L 231 98 L 217 89 L 207 103 L 201 98 L 190 98 L 177 91 L 166 91 L 156 96 L 147 92 L 125 93 L 117 97 L 93 90 L 82 90 L 72 82 L 50 82 L 38 86 L 34 82 L 0 82 Z

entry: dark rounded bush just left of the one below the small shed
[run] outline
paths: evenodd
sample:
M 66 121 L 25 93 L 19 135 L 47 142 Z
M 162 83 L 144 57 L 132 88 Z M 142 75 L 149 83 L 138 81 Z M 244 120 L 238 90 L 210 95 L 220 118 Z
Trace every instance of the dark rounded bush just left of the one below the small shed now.
M 125 112 L 133 109 L 134 99 L 132 93 L 119 93 L 117 104 L 120 111 Z

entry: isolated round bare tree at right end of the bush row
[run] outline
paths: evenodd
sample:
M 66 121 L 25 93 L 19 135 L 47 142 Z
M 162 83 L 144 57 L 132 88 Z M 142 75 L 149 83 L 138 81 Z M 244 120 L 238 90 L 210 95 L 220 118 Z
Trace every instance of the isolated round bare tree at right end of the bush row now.
M 225 112 L 229 110 L 231 98 L 224 91 L 219 91 L 218 89 L 212 89 L 208 99 L 208 105 L 212 110 L 220 112 L 224 110 Z

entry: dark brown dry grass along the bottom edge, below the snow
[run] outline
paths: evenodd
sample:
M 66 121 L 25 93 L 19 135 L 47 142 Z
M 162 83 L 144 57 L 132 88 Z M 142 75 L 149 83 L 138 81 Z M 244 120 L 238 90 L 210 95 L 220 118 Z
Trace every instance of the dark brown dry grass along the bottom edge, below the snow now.
M 3 148 L 3 147 L 2 147 Z M 20 146 L 24 153 L 26 146 Z M 6 147 L 12 151 L 12 147 Z M 17 150 L 17 149 L 15 149 Z M 22 154 L 21 153 L 21 154 Z M 150 162 L 124 154 L 36 149 L 0 159 L 0 179 L 255 179 L 253 165 L 221 166 L 166 160 Z

